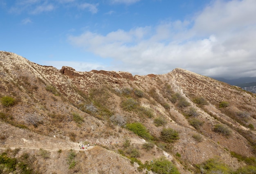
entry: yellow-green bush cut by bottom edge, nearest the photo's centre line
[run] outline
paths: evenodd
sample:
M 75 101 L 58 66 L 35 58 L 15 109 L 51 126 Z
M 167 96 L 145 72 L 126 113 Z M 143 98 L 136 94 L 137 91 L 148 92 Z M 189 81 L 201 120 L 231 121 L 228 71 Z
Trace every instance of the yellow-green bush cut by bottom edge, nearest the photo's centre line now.
M 145 163 L 145 166 L 157 174 L 180 174 L 175 165 L 164 157 L 155 159 L 150 164 Z

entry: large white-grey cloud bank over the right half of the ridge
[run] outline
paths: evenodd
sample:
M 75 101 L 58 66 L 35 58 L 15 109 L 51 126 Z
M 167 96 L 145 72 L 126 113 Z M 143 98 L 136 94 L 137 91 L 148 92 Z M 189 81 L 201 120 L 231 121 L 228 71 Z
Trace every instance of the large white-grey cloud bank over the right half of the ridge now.
M 193 20 L 119 29 L 106 35 L 87 31 L 70 36 L 69 41 L 114 59 L 108 70 L 146 75 L 180 67 L 208 76 L 255 76 L 255 9 L 254 0 L 217 0 Z

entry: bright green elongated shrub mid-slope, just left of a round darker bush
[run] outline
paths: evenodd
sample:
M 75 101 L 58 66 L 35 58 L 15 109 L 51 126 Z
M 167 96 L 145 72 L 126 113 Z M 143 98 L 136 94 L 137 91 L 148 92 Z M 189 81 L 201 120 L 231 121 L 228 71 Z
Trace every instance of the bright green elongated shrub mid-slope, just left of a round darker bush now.
M 146 127 L 139 122 L 126 124 L 126 128 L 137 134 L 139 137 L 142 137 L 144 139 L 153 139 Z

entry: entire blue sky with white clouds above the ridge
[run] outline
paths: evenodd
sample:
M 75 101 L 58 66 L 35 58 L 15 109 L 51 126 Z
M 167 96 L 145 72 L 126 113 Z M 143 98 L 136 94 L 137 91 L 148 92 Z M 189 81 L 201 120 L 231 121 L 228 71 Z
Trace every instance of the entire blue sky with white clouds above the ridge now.
M 133 75 L 256 77 L 256 0 L 0 0 L 0 50 Z

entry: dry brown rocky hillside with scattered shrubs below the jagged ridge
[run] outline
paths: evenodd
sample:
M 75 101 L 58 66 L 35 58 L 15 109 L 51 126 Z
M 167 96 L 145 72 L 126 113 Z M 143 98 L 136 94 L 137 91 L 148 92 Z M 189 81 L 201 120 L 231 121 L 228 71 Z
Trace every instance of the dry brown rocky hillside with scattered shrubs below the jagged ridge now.
M 2 151 L 20 147 L 18 158 L 24 152 L 36 154 L 36 147 L 63 149 L 61 154 L 51 150 L 47 159 L 36 156 L 34 170 L 41 173 L 146 172 L 139 162 L 131 165 L 131 158 L 146 163 L 161 156 L 180 173 L 202 172 L 198 165 L 216 156 L 235 171 L 246 163 L 231 152 L 255 156 L 256 95 L 181 68 L 146 76 L 77 72 L 1 51 L 0 94 Z M 7 106 L 6 97 L 13 104 Z M 131 131 L 132 123 L 145 126 L 151 138 Z M 163 130 L 168 128 L 178 139 L 166 141 Z M 70 167 L 65 146 L 79 142 L 101 145 L 84 154 L 77 151 L 76 165 Z M 146 143 L 152 147 L 145 148 Z M 85 156 L 90 159 L 86 165 L 79 161 Z M 61 168 L 52 165 L 58 162 L 64 163 Z

